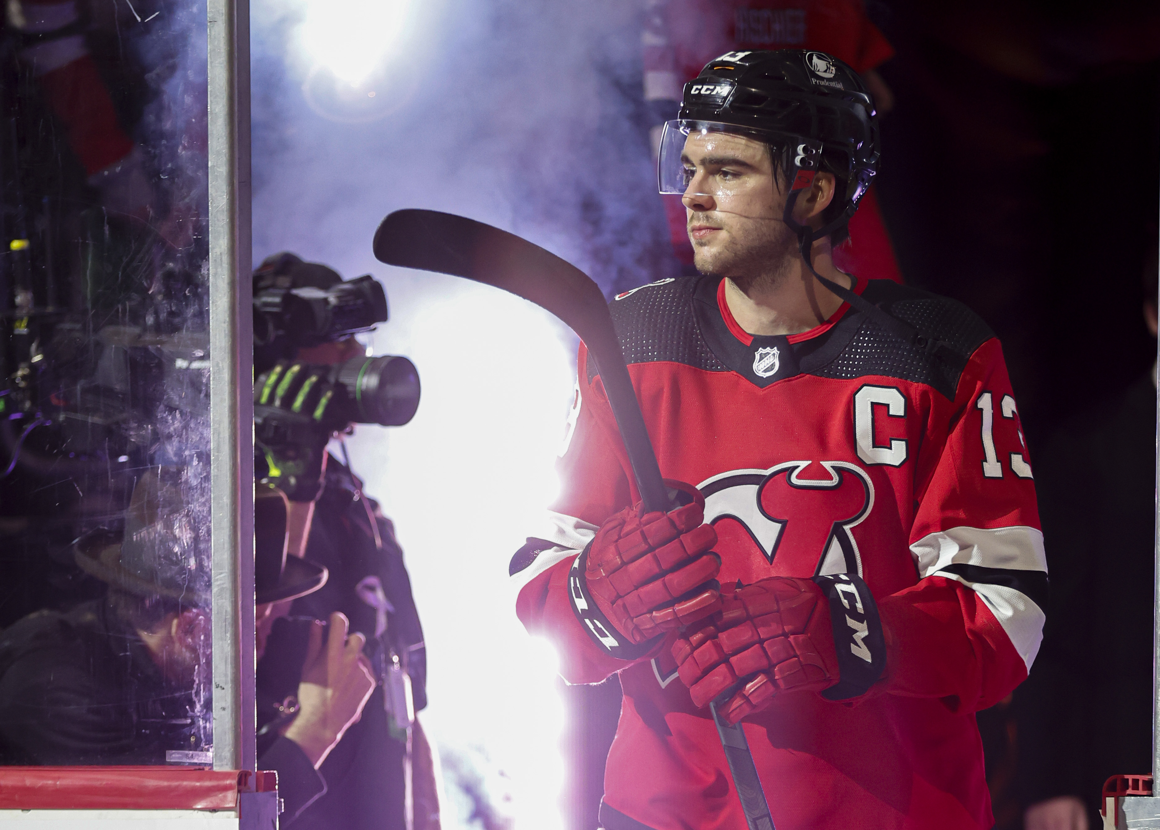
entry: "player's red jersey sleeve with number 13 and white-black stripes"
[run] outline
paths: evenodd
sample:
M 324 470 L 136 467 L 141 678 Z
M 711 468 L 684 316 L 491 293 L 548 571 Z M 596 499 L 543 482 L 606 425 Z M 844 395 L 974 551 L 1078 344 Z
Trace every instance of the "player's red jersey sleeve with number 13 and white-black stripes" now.
M 967 363 L 945 436 L 931 415 L 911 532 L 920 578 L 879 603 L 896 641 L 885 691 L 972 712 L 1027 677 L 1045 619 L 1043 533 L 999 341 Z

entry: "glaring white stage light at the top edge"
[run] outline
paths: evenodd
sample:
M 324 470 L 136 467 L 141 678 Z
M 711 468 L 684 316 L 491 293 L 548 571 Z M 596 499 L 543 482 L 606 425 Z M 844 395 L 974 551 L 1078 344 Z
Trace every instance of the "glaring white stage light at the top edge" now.
M 399 41 L 409 0 L 307 0 L 299 30 L 316 65 L 357 87 Z

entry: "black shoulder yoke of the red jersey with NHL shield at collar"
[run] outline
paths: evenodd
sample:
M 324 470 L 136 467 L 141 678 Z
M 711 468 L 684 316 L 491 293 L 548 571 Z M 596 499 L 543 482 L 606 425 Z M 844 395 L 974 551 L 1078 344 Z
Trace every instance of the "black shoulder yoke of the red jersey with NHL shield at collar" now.
M 745 345 L 728 330 L 717 305 L 716 277 L 684 277 L 646 285 L 612 300 L 612 322 L 629 365 L 683 363 L 709 372 L 734 371 L 766 387 L 795 374 L 820 378 L 885 376 L 930 386 L 955 398 L 971 355 L 994 336 L 957 300 L 872 279 L 862 293 L 870 303 L 936 337 L 947 348 L 936 355 L 884 332 L 856 308 L 829 330 L 790 343 L 784 336 L 754 336 Z M 588 364 L 588 380 L 595 377 Z

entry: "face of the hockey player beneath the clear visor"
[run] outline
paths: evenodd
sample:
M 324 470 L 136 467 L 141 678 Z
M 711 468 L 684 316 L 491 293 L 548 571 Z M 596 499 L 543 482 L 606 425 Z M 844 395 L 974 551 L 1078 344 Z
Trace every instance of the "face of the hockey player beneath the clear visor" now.
M 681 155 L 694 262 L 703 274 L 746 282 L 795 249 L 782 221 L 785 195 L 764 144 L 727 132 L 691 132 Z

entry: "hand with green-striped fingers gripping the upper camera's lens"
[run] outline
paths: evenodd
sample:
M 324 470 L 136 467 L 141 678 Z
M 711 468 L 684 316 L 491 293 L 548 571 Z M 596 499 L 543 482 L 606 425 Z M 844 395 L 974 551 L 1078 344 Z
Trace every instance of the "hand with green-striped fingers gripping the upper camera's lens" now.
M 254 383 L 254 442 L 264 461 L 258 479 L 292 502 L 321 489 L 326 444 L 338 424 L 329 412 L 335 389 L 318 366 L 281 362 Z

